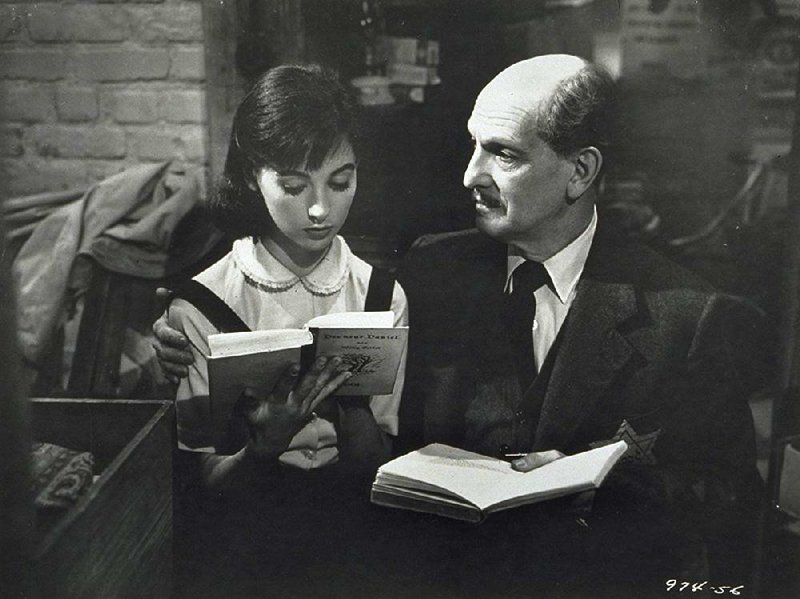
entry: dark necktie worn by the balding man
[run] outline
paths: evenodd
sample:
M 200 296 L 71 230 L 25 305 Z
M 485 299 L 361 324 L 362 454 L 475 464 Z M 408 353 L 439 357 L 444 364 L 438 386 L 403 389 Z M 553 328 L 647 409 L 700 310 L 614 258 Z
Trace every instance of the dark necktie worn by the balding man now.
M 544 266 L 539 262 L 523 262 L 511 275 L 512 288 L 508 297 L 508 335 L 514 352 L 514 367 L 524 393 L 536 378 L 536 362 L 533 358 L 533 318 L 536 314 L 536 299 L 533 292 L 550 280 Z

